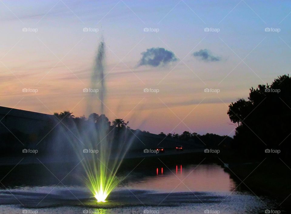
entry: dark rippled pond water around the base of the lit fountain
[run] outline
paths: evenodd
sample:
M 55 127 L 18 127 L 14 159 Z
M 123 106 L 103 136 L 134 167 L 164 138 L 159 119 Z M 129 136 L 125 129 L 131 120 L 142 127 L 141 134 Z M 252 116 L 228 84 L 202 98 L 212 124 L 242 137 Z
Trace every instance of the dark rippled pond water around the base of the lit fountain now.
M 10 172 L 1 181 L 0 213 L 272 213 L 279 204 L 242 185 L 236 188 L 240 182 L 215 164 L 122 169 L 126 178 L 105 203 L 90 198 L 77 172 L 63 179 L 45 170 L 42 176 Z

